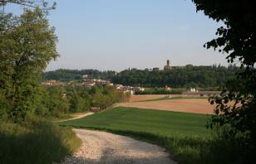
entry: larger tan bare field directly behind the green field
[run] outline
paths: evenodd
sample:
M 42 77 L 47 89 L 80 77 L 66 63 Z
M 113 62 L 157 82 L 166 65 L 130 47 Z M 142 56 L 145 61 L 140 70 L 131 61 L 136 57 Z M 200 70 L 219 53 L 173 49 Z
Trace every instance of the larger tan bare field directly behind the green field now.
M 214 105 L 209 104 L 208 99 L 166 99 L 159 101 L 129 102 L 117 105 L 139 109 L 160 109 L 185 113 L 212 114 L 214 112 Z

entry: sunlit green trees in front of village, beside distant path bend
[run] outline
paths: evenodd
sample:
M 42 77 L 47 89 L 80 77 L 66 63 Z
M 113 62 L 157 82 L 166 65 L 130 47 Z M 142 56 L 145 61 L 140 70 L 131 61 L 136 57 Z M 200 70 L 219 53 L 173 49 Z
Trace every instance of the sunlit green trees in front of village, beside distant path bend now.
M 73 86 L 41 87 L 35 113 L 42 116 L 62 117 L 65 113 L 85 112 L 92 106 L 106 109 L 116 102 L 126 101 L 130 94 L 116 92 L 113 87 Z

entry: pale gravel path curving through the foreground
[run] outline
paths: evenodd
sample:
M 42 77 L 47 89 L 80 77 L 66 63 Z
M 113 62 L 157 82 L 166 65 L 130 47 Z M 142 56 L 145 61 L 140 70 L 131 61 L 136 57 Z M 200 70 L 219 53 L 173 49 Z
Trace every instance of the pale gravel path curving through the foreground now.
M 165 149 L 130 137 L 86 129 L 73 129 L 82 146 L 62 164 L 176 164 Z

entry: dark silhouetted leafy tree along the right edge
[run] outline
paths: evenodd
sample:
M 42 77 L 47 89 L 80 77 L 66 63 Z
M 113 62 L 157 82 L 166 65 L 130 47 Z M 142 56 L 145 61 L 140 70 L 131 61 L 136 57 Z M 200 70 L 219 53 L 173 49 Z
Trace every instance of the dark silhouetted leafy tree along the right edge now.
M 217 38 L 204 46 L 227 54 L 229 62 L 239 62 L 236 80 L 229 81 L 220 96 L 210 99 L 217 104 L 210 127 L 226 129 L 225 138 L 240 139 L 248 160 L 255 160 L 256 147 L 256 13 L 253 1 L 192 0 L 197 10 L 215 21 L 224 22 L 216 31 Z M 243 139 L 241 141 L 241 139 Z

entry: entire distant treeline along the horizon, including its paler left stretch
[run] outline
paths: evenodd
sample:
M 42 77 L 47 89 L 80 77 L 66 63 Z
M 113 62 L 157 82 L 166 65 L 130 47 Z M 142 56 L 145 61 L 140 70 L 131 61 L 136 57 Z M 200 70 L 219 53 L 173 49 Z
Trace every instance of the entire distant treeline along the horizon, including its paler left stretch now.
M 45 80 L 82 80 L 82 75 L 91 78 L 111 80 L 115 84 L 144 87 L 218 87 L 227 80 L 233 79 L 239 67 L 229 65 L 194 66 L 186 65 L 184 68 L 173 70 L 55 70 L 44 74 Z

